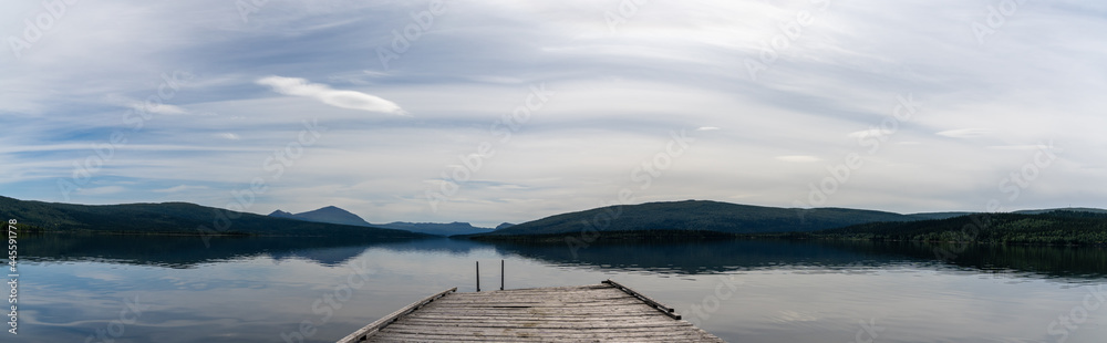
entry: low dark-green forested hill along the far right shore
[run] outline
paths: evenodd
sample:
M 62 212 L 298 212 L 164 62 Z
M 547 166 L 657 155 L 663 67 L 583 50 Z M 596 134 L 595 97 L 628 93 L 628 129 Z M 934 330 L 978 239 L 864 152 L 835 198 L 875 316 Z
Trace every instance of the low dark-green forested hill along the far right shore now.
M 942 220 L 873 222 L 806 233 L 816 238 L 1026 245 L 1107 243 L 1107 214 L 976 214 Z

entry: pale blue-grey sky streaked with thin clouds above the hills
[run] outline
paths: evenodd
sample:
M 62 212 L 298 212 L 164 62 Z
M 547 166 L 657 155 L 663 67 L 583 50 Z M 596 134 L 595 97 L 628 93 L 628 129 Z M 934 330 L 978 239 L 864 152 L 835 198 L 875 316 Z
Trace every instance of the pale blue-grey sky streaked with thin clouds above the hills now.
M 486 226 L 684 199 L 1103 208 L 1105 15 L 1101 1 L 6 1 L 0 195 Z

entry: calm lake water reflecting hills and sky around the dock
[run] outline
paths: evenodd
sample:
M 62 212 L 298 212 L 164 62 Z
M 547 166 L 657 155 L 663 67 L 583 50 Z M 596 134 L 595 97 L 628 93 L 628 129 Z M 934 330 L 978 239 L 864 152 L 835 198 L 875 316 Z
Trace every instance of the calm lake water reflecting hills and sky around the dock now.
M 475 291 L 475 261 L 498 289 L 500 259 L 507 288 L 612 279 L 730 342 L 1107 337 L 1101 248 L 45 236 L 19 249 L 19 335 L 3 342 L 334 342 L 432 293 Z

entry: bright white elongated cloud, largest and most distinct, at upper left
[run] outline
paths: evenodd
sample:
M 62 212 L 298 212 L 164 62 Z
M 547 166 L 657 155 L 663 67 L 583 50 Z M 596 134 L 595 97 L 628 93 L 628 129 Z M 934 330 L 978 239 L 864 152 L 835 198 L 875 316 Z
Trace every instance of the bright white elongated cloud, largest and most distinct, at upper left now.
M 257 83 L 270 86 L 273 89 L 273 92 L 280 94 L 311 97 L 335 107 L 407 115 L 407 112 L 401 108 L 400 105 L 380 96 L 356 91 L 334 90 L 330 85 L 311 83 L 300 77 L 273 75 L 259 79 Z

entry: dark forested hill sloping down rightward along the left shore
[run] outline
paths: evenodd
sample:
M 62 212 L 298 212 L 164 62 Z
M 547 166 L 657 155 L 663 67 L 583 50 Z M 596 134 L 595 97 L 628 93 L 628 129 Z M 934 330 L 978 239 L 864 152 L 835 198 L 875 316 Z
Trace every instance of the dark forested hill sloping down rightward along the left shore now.
M 0 197 L 0 218 L 17 219 L 24 228 L 64 232 L 387 239 L 426 237 L 403 230 L 273 218 L 187 202 L 86 206 Z M 208 231 L 201 231 L 201 227 Z

